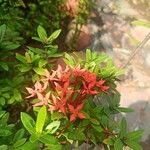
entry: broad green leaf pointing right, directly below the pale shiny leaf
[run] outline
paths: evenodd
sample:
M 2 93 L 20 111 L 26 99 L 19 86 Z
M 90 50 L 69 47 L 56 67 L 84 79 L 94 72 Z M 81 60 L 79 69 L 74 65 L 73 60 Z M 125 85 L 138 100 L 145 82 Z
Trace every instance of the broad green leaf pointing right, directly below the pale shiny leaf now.
M 40 136 L 39 140 L 44 144 L 58 144 L 57 139 L 50 134 Z

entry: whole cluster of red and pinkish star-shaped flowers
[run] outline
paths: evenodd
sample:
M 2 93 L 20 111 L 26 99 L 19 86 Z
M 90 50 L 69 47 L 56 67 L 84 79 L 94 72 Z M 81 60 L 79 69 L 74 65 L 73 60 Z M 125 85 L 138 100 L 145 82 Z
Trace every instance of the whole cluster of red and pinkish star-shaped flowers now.
M 85 118 L 82 112 L 87 96 L 106 92 L 109 87 L 104 85 L 105 80 L 98 80 L 95 73 L 77 67 L 65 70 L 59 65 L 52 73 L 46 71 L 44 78 L 36 82 L 34 89 L 26 88 L 29 92 L 27 98 L 39 99 L 34 106 L 46 105 L 49 111 L 59 111 L 70 115 L 70 121 Z

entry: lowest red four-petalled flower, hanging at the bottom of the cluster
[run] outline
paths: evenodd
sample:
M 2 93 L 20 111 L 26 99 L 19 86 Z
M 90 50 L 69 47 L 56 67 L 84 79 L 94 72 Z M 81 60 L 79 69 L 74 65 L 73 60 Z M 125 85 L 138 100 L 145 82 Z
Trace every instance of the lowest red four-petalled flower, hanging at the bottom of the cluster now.
M 68 104 L 69 112 L 70 112 L 70 122 L 74 122 L 76 118 L 84 119 L 85 116 L 82 112 L 80 112 L 83 108 L 83 103 L 78 105 L 76 108 L 74 106 Z

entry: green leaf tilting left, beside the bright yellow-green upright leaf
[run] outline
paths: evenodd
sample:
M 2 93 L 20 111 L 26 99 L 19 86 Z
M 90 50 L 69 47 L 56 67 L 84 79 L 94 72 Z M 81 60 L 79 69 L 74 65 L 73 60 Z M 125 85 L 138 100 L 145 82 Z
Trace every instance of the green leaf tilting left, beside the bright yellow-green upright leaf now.
M 21 112 L 21 121 L 30 134 L 35 133 L 35 121 L 28 114 Z

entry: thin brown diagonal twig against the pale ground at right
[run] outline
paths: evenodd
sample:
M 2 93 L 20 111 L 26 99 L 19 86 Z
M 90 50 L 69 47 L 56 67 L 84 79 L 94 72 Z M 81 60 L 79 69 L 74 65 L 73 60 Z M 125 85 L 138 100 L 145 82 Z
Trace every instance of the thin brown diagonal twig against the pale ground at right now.
M 130 61 L 133 59 L 133 57 L 138 53 L 139 50 L 141 50 L 143 48 L 143 46 L 148 42 L 148 40 L 150 39 L 150 33 L 144 38 L 144 40 L 134 49 L 133 53 L 131 54 L 131 56 L 129 57 L 129 59 L 127 60 L 127 62 L 125 64 L 122 64 L 120 66 L 120 68 L 124 69 L 127 67 L 127 65 L 130 63 Z

